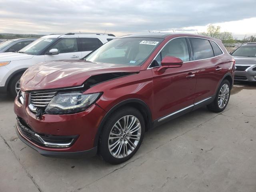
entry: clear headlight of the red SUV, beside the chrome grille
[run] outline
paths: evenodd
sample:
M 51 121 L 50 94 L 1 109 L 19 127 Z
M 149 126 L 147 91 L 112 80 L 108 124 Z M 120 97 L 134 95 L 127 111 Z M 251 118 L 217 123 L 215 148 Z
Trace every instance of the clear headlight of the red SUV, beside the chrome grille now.
M 101 93 L 82 94 L 80 92 L 60 93 L 54 96 L 45 109 L 46 114 L 72 114 L 86 110 Z

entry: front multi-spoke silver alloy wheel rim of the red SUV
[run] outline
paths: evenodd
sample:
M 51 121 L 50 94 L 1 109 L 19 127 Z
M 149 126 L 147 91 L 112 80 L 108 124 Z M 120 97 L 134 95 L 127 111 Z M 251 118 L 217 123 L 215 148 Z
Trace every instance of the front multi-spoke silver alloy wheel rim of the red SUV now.
M 108 137 L 108 149 L 115 158 L 130 155 L 140 141 L 141 125 L 138 118 L 126 115 L 112 127 Z

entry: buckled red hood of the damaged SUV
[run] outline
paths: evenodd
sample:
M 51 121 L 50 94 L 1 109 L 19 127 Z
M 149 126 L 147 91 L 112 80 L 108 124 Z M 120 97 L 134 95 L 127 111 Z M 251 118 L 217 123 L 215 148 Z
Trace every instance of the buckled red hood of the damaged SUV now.
M 113 72 L 139 72 L 140 66 L 105 64 L 84 60 L 58 60 L 31 66 L 20 79 L 22 91 L 82 85 L 90 76 Z

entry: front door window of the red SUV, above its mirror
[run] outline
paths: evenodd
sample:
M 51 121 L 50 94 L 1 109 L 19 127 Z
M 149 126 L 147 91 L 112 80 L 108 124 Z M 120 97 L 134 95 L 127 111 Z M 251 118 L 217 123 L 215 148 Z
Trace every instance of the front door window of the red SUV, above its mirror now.
M 162 59 L 165 56 L 174 56 L 182 61 L 189 61 L 188 45 L 186 38 L 171 40 L 161 51 Z

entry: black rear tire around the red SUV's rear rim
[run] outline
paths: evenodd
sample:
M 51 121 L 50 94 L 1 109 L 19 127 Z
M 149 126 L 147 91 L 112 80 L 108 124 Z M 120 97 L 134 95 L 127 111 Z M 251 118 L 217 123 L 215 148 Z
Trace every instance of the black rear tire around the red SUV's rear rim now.
M 208 110 L 218 113 L 218 112 L 222 112 L 226 108 L 226 106 L 228 105 L 228 101 L 226 102 L 226 105 L 223 108 L 220 108 L 219 105 L 218 105 L 218 96 L 219 96 L 219 93 L 220 93 L 220 89 L 222 88 L 222 86 L 224 84 L 227 84 L 228 88 L 229 88 L 229 94 L 228 94 L 228 101 L 229 101 L 231 86 L 230 86 L 230 82 L 225 79 L 221 82 L 221 84 L 220 84 L 220 86 L 219 86 L 219 88 L 216 92 L 214 101 L 211 104 L 207 105 Z

